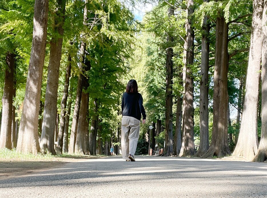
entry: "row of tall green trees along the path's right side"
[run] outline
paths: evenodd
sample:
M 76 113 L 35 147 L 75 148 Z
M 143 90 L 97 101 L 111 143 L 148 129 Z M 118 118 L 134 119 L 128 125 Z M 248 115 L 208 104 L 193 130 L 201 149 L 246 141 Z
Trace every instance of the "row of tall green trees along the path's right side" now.
M 256 0 L 159 1 L 147 14 L 143 79 L 154 98 L 146 107 L 158 128 L 165 121 L 165 156 L 221 157 L 234 150 L 266 160 L 265 7 Z

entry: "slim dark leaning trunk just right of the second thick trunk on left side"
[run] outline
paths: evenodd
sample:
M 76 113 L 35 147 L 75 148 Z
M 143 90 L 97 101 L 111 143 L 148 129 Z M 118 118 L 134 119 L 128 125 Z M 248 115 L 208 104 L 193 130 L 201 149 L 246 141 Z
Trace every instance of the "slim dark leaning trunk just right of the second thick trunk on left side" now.
M 69 53 L 68 66 L 66 68 L 66 75 L 65 75 L 65 85 L 64 85 L 63 96 L 62 96 L 62 100 L 61 100 L 60 126 L 59 126 L 58 140 L 57 140 L 57 147 L 56 147 L 57 154 L 62 154 L 67 99 L 68 99 L 68 95 L 69 95 L 69 78 L 70 78 L 70 75 L 71 75 L 71 54 Z

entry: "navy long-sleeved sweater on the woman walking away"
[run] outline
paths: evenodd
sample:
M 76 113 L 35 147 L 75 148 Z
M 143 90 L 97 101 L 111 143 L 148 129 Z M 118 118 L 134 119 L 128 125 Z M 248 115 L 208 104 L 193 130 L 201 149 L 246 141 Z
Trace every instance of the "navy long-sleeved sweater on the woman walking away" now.
M 141 120 L 141 113 L 143 119 L 146 120 L 146 111 L 143 106 L 143 97 L 140 93 L 127 93 L 122 96 L 121 102 L 122 116 L 134 117 Z

